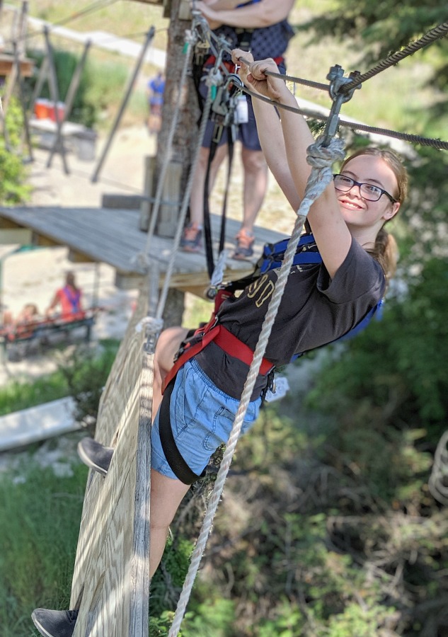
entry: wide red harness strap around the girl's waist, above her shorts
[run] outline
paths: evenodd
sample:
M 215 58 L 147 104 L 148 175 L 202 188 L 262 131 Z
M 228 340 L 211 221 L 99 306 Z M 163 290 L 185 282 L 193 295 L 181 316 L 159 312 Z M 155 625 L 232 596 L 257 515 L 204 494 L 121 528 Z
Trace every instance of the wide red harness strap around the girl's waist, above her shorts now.
M 208 326 L 209 323 L 203 329 L 207 330 Z M 165 391 L 166 386 L 168 386 L 168 384 L 176 376 L 180 367 L 182 367 L 185 362 L 187 362 L 191 357 L 195 356 L 205 347 L 207 347 L 207 345 L 211 343 L 212 340 L 214 340 L 214 343 L 216 343 L 219 348 L 224 350 L 226 354 L 229 354 L 229 356 L 238 358 L 243 363 L 246 363 L 246 365 L 251 365 L 251 362 L 253 360 L 253 351 L 251 350 L 251 348 L 249 348 L 246 343 L 242 343 L 239 338 L 236 338 L 236 336 L 229 332 L 229 330 L 226 330 L 226 328 L 224 328 L 222 325 L 215 325 L 214 327 L 209 328 L 208 331 L 205 331 L 202 339 L 194 345 L 188 346 L 187 343 L 185 349 L 178 356 L 173 367 L 171 367 L 168 374 L 166 374 L 166 378 L 163 381 L 162 394 L 163 391 Z M 272 367 L 274 367 L 274 365 L 272 365 L 272 362 L 270 362 L 266 358 L 263 358 L 260 365 L 260 374 L 263 374 L 263 376 L 265 376 L 265 374 L 268 374 L 268 372 L 270 372 Z

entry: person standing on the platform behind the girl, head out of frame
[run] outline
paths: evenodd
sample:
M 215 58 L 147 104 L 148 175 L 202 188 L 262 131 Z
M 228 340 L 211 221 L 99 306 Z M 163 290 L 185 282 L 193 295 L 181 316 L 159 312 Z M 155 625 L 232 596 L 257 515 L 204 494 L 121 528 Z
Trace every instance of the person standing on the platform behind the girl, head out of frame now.
M 287 18 L 294 6 L 294 0 L 251 0 L 240 4 L 238 0 L 217 0 L 215 2 L 195 3 L 195 8 L 207 18 L 209 27 L 217 36 L 223 36 L 230 42 L 230 48 L 239 47 L 250 50 L 255 58 L 272 57 L 285 72 L 284 54 L 289 39 L 293 35 Z M 215 57 L 209 52 L 202 67 L 199 93 L 202 99 L 207 97 L 205 77 L 214 66 Z M 224 52 L 223 62 L 229 73 L 236 66 L 230 55 Z M 236 249 L 232 258 L 246 259 L 253 255 L 253 226 L 263 205 L 268 188 L 268 166 L 260 147 L 257 125 L 253 115 L 251 98 L 247 98 L 247 118 L 238 125 L 241 141 L 241 161 L 243 163 L 243 220 L 236 234 Z M 180 247 L 186 252 L 202 250 L 202 223 L 204 219 L 204 186 L 210 146 L 214 131 L 214 122 L 209 120 L 202 141 L 193 188 L 190 197 L 190 222 L 185 226 Z M 224 130 L 212 161 L 209 179 L 209 192 L 212 191 L 219 166 L 227 154 L 227 130 Z

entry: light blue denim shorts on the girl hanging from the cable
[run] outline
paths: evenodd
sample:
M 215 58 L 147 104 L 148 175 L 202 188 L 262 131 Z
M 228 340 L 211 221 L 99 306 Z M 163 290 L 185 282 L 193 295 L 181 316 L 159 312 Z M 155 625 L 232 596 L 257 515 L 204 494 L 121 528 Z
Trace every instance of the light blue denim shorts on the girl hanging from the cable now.
M 249 403 L 241 434 L 255 422 L 261 398 Z M 170 418 L 176 447 L 198 476 L 220 444 L 229 440 L 239 401 L 221 391 L 195 359 L 181 367 L 171 394 Z M 159 435 L 159 412 L 151 429 L 151 468 L 168 478 L 177 478 L 166 460 Z

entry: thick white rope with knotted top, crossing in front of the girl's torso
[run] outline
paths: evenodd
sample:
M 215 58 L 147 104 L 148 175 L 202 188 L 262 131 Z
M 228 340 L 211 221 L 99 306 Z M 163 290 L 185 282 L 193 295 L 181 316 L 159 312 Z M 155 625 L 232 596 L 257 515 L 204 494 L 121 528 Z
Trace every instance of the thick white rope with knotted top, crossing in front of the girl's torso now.
M 268 343 L 268 338 L 272 331 L 272 326 L 274 324 L 275 316 L 277 315 L 277 311 L 282 300 L 283 292 L 285 291 L 289 270 L 293 263 L 294 254 L 297 250 L 297 244 L 299 243 L 306 215 L 308 214 L 309 208 L 314 203 L 314 201 L 316 201 L 321 193 L 323 193 L 323 190 L 325 190 L 327 185 L 331 183 L 331 180 L 333 179 L 331 171 L 333 162 L 338 159 L 342 160 L 344 158 L 343 141 L 341 139 L 332 139 L 329 146 L 326 148 L 321 145 L 321 142 L 322 140 L 318 139 L 317 142 L 312 144 L 308 149 L 307 161 L 312 168 L 309 180 L 306 184 L 305 196 L 301 202 L 299 210 L 297 211 L 297 219 L 294 225 L 294 231 L 292 233 L 291 239 L 289 239 L 288 247 L 285 252 L 285 258 L 278 274 L 277 282 L 275 284 L 274 292 L 272 293 L 272 298 L 270 299 L 265 320 L 263 321 L 263 326 L 261 328 L 258 343 L 253 355 L 253 361 L 251 363 L 251 367 L 249 368 L 246 383 L 243 387 L 243 394 L 241 395 L 239 408 L 236 412 L 234 425 L 230 433 L 229 441 L 226 445 L 226 451 L 224 452 L 221 466 L 219 467 L 212 495 L 209 499 L 209 505 L 205 513 L 205 518 L 202 523 L 202 528 L 197 539 L 195 550 L 193 551 L 190 568 L 185 578 L 183 590 L 180 594 L 178 606 L 176 608 L 176 613 L 174 615 L 173 623 L 171 624 L 171 629 L 168 633 L 168 637 L 176 637 L 178 635 L 180 624 L 185 614 L 185 609 L 187 607 L 188 599 L 193 588 L 197 570 L 199 568 L 202 555 L 205 551 L 207 538 L 209 536 L 210 530 L 212 529 L 213 518 L 216 513 L 219 500 L 222 497 L 224 483 L 229 472 L 231 460 L 234 456 L 236 442 L 239 439 L 244 416 L 246 415 L 248 403 L 251 399 L 253 387 L 255 386 L 255 380 L 258 377 L 258 372 L 260 369 L 261 361 L 263 359 L 263 355 L 265 353 L 266 345 Z

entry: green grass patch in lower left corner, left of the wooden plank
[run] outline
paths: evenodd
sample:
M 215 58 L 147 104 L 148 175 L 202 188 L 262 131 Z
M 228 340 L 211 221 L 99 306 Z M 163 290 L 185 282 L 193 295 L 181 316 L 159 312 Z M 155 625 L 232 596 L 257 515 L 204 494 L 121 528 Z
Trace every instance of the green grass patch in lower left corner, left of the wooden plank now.
M 30 458 L 0 476 L 0 622 L 4 637 L 28 637 L 36 607 L 68 608 L 87 469 L 54 476 Z

